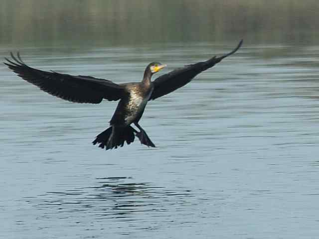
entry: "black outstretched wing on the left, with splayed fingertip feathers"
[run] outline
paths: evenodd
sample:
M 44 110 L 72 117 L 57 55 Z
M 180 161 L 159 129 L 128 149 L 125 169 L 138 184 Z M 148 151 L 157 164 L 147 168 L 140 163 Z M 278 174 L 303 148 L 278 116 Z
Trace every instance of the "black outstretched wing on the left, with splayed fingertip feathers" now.
M 20 58 L 11 53 L 12 60 L 5 58 L 7 65 L 23 80 L 32 83 L 53 96 L 77 103 L 99 104 L 103 99 L 117 101 L 125 89 L 112 81 L 91 76 L 72 76 L 48 72 L 27 66 Z

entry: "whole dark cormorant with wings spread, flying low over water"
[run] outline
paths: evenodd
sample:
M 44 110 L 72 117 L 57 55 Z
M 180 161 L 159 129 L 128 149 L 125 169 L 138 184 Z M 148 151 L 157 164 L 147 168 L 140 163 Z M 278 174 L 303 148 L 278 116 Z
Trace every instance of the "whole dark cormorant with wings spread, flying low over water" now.
M 186 65 L 158 77 L 153 82 L 151 77 L 166 65 L 159 62 L 149 64 L 144 72 L 142 82 L 115 84 L 112 81 L 98 79 L 91 76 L 72 76 L 54 71 L 37 70 L 26 65 L 19 53 L 12 60 L 5 58 L 7 65 L 13 72 L 27 82 L 39 87 L 53 96 L 77 103 L 99 104 L 103 99 L 108 101 L 120 100 L 110 121 L 110 127 L 96 136 L 93 144 L 107 149 L 122 147 L 124 142 L 130 144 L 137 136 L 142 144 L 155 147 L 145 130 L 139 124 L 146 104 L 189 83 L 197 74 L 213 67 L 225 57 L 235 53 L 242 45 L 220 57 L 212 57 L 207 61 Z M 131 126 L 134 123 L 138 129 Z

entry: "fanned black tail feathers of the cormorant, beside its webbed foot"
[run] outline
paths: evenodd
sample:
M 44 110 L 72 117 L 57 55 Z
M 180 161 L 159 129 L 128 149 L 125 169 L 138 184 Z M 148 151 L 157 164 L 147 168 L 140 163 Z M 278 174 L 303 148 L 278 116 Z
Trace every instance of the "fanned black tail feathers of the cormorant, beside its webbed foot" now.
M 134 128 L 132 126 L 127 127 L 115 127 L 111 126 L 104 130 L 102 133 L 96 136 L 95 140 L 92 142 L 94 145 L 99 144 L 100 148 L 106 150 L 122 147 L 124 142 L 130 144 L 134 141 Z

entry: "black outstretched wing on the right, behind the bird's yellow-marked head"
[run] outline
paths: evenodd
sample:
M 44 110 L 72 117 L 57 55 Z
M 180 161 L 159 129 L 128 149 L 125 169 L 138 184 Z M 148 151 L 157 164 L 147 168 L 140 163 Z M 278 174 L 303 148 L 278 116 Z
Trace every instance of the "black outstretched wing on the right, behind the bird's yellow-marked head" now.
M 171 71 L 165 75 L 160 76 L 155 81 L 154 90 L 150 97 L 150 100 L 155 100 L 161 96 L 164 96 L 174 90 L 186 85 L 189 83 L 197 74 L 201 73 L 202 71 L 207 70 L 208 68 L 213 67 L 215 64 L 220 62 L 225 57 L 235 53 L 242 45 L 243 40 L 241 40 L 238 46 L 229 52 L 220 57 L 212 57 L 211 59 L 203 62 L 198 62 L 196 64 L 187 65 L 183 68 L 176 69 Z

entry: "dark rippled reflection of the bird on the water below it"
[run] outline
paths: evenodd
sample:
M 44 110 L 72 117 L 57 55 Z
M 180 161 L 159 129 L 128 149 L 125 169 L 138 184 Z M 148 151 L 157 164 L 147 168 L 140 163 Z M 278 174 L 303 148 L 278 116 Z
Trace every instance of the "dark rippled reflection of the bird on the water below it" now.
M 166 212 L 169 207 L 187 205 L 191 192 L 186 189 L 171 191 L 151 183 L 134 183 L 132 177 L 97 178 L 96 185 L 88 188 L 46 192 L 44 195 L 28 199 L 27 202 L 38 210 L 50 209 L 47 219 L 59 217 L 79 217 L 82 212 L 87 217 L 101 219 L 122 219 L 134 221 L 136 213 L 154 214 Z M 72 214 L 75 214 L 72 216 Z

